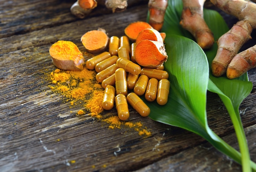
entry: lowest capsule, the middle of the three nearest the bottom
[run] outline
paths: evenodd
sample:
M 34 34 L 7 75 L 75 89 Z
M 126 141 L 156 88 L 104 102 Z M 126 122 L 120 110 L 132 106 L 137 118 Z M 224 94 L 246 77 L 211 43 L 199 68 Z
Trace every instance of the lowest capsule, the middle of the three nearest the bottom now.
M 117 115 L 122 121 L 127 120 L 130 117 L 128 103 L 125 95 L 119 94 L 115 97 L 115 104 L 117 108 Z

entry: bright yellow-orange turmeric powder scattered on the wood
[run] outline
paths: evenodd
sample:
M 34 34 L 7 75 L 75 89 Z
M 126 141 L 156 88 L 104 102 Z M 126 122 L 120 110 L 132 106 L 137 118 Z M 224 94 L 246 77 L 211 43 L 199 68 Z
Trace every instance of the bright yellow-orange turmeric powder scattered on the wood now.
M 95 75 L 95 71 L 90 71 L 83 68 L 82 71 L 64 71 L 56 69 L 51 72 L 47 79 L 52 84 L 49 86 L 54 93 L 63 95 L 66 101 L 70 101 L 70 107 L 83 103 L 84 110 L 79 110 L 77 115 L 89 114 L 92 117 L 101 119 L 109 124 L 108 128 L 133 128 L 139 135 L 146 137 L 150 136 L 150 131 L 143 127 L 141 122 L 133 123 L 131 121 L 120 121 L 118 116 L 112 116 L 108 118 L 102 118 L 101 112 L 103 108 L 101 106 L 104 89 L 99 84 Z M 86 112 L 88 110 L 89 112 Z

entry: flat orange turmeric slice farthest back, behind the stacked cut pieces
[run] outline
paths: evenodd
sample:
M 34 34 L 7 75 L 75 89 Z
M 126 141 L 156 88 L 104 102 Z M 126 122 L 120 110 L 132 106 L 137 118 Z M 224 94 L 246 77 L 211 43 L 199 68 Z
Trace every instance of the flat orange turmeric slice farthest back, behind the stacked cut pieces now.
M 152 26 L 148 24 L 147 22 L 133 22 L 130 23 L 125 29 L 124 33 L 127 37 L 129 37 L 130 40 L 135 41 L 137 36 L 139 35 L 139 32 L 141 32 L 144 29 L 152 29 Z

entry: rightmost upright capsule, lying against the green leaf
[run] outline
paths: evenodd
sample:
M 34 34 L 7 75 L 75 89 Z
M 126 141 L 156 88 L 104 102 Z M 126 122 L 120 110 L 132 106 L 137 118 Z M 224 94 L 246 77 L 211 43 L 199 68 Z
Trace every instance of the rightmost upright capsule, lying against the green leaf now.
M 161 79 L 157 89 L 157 103 L 159 105 L 165 105 L 168 101 L 168 95 L 170 90 L 170 82 L 168 79 Z

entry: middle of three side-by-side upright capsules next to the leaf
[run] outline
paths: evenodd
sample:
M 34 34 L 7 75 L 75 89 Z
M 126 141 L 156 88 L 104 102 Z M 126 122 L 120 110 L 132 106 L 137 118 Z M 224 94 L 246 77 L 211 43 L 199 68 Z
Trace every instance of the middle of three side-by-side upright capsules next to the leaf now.
M 154 101 L 157 98 L 158 80 L 151 78 L 148 80 L 148 86 L 145 93 L 145 99 L 147 101 Z

